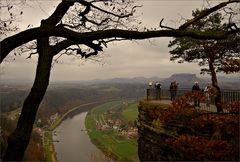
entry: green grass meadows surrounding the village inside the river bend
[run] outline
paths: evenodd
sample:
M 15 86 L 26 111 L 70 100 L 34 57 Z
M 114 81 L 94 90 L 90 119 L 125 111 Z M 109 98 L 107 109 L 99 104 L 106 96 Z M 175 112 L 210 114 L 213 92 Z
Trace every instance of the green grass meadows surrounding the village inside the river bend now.
M 122 115 L 127 121 L 137 118 L 137 105 L 134 102 L 124 109 Z M 85 125 L 93 143 L 102 150 L 110 151 L 110 154 L 120 161 L 139 161 L 137 155 L 137 139 L 123 139 L 118 137 L 115 130 L 98 130 L 95 126 L 95 117 L 102 115 L 110 109 L 120 108 L 121 101 L 112 101 L 93 108 L 86 116 Z M 108 152 L 109 154 L 109 152 Z

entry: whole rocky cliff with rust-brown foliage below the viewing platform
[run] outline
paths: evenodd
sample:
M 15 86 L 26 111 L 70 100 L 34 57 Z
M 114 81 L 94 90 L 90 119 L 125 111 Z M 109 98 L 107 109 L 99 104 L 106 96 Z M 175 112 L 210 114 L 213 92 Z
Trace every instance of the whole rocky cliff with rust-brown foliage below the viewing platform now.
M 239 161 L 239 116 L 139 103 L 140 161 Z

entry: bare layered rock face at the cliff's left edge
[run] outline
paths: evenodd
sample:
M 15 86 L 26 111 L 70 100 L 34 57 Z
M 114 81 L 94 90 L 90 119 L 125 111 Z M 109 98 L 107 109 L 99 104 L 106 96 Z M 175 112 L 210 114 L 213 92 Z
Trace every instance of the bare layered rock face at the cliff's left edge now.
M 175 136 L 174 127 L 166 127 L 158 120 L 153 120 L 148 109 L 167 109 L 169 105 L 153 102 L 140 102 L 138 125 L 138 155 L 140 161 L 170 160 L 171 148 L 165 143 L 168 138 Z

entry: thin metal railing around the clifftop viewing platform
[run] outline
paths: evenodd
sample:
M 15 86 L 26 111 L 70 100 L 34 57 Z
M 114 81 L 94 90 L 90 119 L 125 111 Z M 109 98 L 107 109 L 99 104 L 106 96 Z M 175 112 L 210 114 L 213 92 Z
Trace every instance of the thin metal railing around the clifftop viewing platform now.
M 176 91 L 175 99 L 184 96 L 186 93 L 192 92 L 190 88 L 186 89 L 178 89 Z M 204 91 L 201 91 L 202 95 Z M 221 97 L 223 104 L 231 104 L 236 101 L 240 101 L 240 89 L 231 90 L 231 89 L 221 89 Z M 147 89 L 147 100 L 171 100 L 171 92 L 168 89 L 155 89 L 149 88 Z M 194 98 L 192 99 L 192 103 L 194 102 Z M 209 104 L 207 104 L 207 100 L 200 102 L 201 109 L 216 112 L 215 99 L 214 95 L 210 95 Z

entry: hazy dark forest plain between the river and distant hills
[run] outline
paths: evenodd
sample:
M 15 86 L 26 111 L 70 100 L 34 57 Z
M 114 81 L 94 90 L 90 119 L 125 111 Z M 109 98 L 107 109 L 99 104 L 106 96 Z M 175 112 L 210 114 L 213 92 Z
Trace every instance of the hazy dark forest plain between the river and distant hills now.
M 2 85 L 3 87 L 3 85 Z M 146 85 L 124 83 L 102 84 L 53 84 L 48 89 L 40 112 L 45 115 L 64 111 L 71 106 L 93 101 L 111 100 L 116 98 L 137 98 L 145 95 Z M 4 86 L 1 88 L 1 111 L 8 112 L 20 108 L 23 100 L 29 92 L 25 86 Z M 66 107 L 66 108 L 65 108 Z M 46 114 L 45 114 L 46 113 Z

